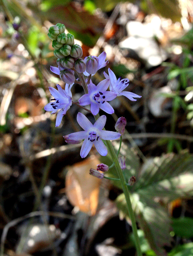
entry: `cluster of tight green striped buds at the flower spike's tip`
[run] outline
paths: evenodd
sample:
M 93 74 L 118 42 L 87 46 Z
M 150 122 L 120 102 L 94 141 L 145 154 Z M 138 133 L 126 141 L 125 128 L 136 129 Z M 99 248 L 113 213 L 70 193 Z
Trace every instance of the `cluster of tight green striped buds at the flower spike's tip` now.
M 74 44 L 74 36 L 70 33 L 66 34 L 65 29 L 66 27 L 64 24 L 57 23 L 56 26 L 49 28 L 48 36 L 53 40 L 52 47 L 55 49 L 54 55 L 58 58 L 58 66 L 71 69 L 74 67 L 74 63 L 77 63 L 76 60 L 79 60 L 82 57 L 82 47 L 78 44 Z M 80 63 L 79 60 L 79 66 Z M 84 70 L 84 67 L 81 70 Z

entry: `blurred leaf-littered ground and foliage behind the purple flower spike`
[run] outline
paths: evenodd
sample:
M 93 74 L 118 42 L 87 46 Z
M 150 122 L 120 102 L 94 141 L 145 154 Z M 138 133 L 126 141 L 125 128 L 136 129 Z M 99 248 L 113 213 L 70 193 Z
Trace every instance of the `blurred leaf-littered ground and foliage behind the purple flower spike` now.
M 50 26 L 63 23 L 83 57 L 105 51 L 111 68 L 141 95 L 111 102 L 105 128 L 127 119 L 121 156 L 143 255 L 193 255 L 193 2 L 191 0 L 0 0 L 0 256 L 135 255 L 118 181 L 89 175 L 92 148 L 63 136 L 80 131 L 73 105 L 55 127 L 44 111 L 49 86 L 64 82 Z M 66 32 L 67 33 L 67 32 Z M 83 90 L 75 84 L 73 100 Z M 103 111 L 100 114 L 104 114 Z M 114 142 L 118 149 L 118 142 Z M 113 168 L 108 178 L 116 178 Z

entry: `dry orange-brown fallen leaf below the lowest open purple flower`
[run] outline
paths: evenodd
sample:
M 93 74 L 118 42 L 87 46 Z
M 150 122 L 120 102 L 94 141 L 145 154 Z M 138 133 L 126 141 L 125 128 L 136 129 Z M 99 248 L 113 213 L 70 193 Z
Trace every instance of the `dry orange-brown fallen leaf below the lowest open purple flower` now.
M 66 195 L 69 201 L 81 212 L 90 215 L 96 213 L 101 180 L 91 176 L 89 170 L 99 163 L 96 156 L 92 155 L 81 163 L 69 167 L 66 174 Z

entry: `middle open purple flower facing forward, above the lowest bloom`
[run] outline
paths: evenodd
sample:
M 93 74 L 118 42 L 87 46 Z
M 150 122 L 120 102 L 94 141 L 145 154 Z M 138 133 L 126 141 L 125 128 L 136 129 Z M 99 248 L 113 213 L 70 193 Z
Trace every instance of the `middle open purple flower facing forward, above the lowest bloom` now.
M 92 83 L 89 84 L 89 93 L 84 94 L 79 99 L 79 104 L 81 106 L 90 104 L 90 110 L 94 116 L 98 114 L 99 108 L 101 108 L 108 114 L 114 113 L 114 109 L 107 101 L 114 100 L 117 95 L 115 92 L 106 92 L 109 87 L 109 83 L 109 79 L 104 79 L 97 85 Z

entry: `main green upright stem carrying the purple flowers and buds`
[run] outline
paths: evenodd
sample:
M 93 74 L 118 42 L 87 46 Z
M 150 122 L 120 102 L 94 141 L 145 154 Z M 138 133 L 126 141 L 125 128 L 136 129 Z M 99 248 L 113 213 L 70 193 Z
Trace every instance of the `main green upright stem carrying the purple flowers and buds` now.
M 87 87 L 87 84 L 85 82 L 84 75 L 83 74 L 79 74 L 79 78 L 82 81 L 82 87 L 84 89 L 84 92 L 88 93 L 88 87 Z M 100 117 L 100 115 L 97 114 L 94 117 L 95 117 L 95 120 L 97 120 Z M 134 234 L 134 238 L 135 238 L 135 246 L 136 246 L 137 256 L 142 256 L 142 252 L 141 252 L 141 248 L 140 248 L 140 242 L 139 242 L 139 236 L 137 234 L 137 225 L 136 225 L 135 215 L 134 215 L 134 212 L 132 210 L 130 194 L 129 194 L 129 190 L 128 190 L 128 187 L 127 187 L 127 183 L 126 183 L 125 177 L 123 175 L 123 172 L 122 172 L 122 170 L 120 168 L 120 164 L 119 164 L 117 155 L 116 155 L 116 153 L 114 151 L 114 148 L 112 146 L 111 141 L 110 140 L 106 140 L 106 145 L 107 145 L 107 148 L 108 148 L 108 152 L 111 154 L 112 161 L 115 164 L 115 167 L 116 167 L 116 170 L 117 170 L 120 182 L 122 184 L 123 193 L 125 195 L 125 199 L 126 199 L 126 202 L 127 202 L 127 210 L 128 210 L 128 213 L 129 213 L 129 217 L 130 217 L 131 223 L 132 223 L 132 230 L 133 230 L 133 234 Z

